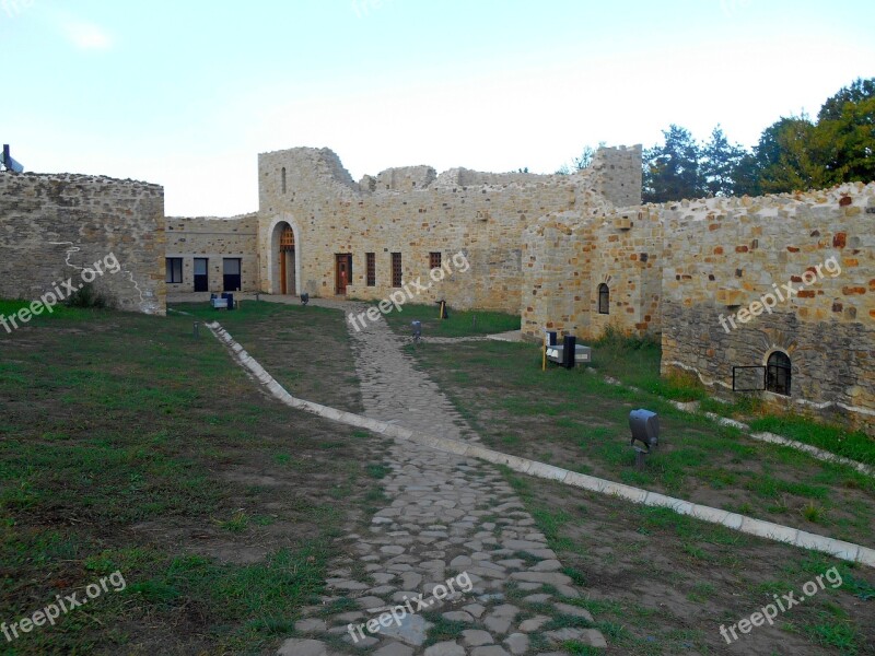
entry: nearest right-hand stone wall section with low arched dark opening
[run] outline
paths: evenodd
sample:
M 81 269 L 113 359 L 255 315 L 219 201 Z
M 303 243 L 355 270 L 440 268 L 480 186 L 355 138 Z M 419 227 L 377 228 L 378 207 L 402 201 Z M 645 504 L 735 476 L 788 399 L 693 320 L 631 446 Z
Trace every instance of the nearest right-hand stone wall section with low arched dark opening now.
M 783 351 L 790 399 L 763 398 L 873 425 L 875 183 L 684 201 L 664 214 L 663 373 L 732 389 L 733 365 Z

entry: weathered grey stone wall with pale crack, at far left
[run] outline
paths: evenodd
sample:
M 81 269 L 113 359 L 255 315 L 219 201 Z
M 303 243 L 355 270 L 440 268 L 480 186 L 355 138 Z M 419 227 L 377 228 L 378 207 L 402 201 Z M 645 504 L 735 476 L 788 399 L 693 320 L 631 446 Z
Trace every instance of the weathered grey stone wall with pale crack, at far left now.
M 163 315 L 164 190 L 73 174 L 0 173 L 0 296 L 35 300 L 115 255 L 94 288 L 120 309 Z

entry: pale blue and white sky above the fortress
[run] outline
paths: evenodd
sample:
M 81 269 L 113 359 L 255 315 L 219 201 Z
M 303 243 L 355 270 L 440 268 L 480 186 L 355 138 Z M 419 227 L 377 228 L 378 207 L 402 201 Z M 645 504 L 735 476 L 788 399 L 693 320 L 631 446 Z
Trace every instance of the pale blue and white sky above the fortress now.
M 752 144 L 875 75 L 863 0 L 0 0 L 0 140 L 28 171 L 164 185 L 168 215 L 258 207 L 257 154 L 355 179 L 552 173 L 677 122 Z

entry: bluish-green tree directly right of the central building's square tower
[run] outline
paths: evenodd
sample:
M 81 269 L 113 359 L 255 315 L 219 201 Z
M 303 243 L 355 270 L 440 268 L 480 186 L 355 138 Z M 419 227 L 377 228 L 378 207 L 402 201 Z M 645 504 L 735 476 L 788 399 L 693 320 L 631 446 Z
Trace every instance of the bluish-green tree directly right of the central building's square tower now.
M 667 202 L 703 196 L 699 178 L 699 144 L 686 128 L 672 124 L 665 143 L 644 153 L 645 202 Z

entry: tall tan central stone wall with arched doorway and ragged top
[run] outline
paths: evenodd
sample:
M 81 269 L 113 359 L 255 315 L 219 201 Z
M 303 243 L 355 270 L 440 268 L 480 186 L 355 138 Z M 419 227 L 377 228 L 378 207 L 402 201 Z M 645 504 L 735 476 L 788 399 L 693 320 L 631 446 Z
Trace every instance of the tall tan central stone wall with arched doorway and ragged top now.
M 354 183 L 328 149 L 259 155 L 261 288 L 279 289 L 277 225 L 295 231 L 299 291 L 335 294 L 335 256 L 352 255 L 348 295 L 384 298 L 392 286 L 392 253 L 400 253 L 404 282 L 431 285 L 417 302 L 520 312 L 522 234 L 537 218 L 575 207 L 598 188 L 640 202 L 641 149 L 603 149 L 575 175 L 486 174 L 428 166 L 395 168 Z M 285 192 L 283 194 L 283 169 Z M 638 177 L 635 177 L 635 174 Z M 430 279 L 429 254 L 440 251 L 444 280 Z M 368 286 L 365 254 L 376 255 L 376 285 Z M 457 267 L 456 261 L 467 261 Z M 436 274 L 435 274 L 436 277 Z

